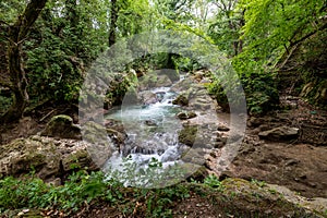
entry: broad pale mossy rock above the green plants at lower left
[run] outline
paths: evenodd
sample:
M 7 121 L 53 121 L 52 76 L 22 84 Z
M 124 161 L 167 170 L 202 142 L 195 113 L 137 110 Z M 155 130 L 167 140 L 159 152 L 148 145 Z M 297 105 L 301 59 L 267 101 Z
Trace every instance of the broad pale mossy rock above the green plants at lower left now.
M 1 175 L 19 177 L 35 170 L 40 179 L 51 181 L 72 169 L 72 167 L 92 170 L 99 169 L 89 154 L 88 144 L 81 141 L 32 136 L 19 138 L 1 146 Z

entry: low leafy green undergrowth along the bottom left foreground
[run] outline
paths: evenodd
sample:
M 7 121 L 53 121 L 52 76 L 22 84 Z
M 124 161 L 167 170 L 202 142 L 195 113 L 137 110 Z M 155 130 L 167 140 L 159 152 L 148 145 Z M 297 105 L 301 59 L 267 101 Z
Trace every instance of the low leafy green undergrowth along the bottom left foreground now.
M 221 189 L 215 177 L 208 177 L 203 184 Z M 37 208 L 57 209 L 70 215 L 93 201 L 99 201 L 111 206 L 124 205 L 121 210 L 125 215 L 136 213 L 146 217 L 170 217 L 174 203 L 190 195 L 185 182 L 164 189 L 124 187 L 117 180 L 106 179 L 101 171 L 80 170 L 73 172 L 64 184 L 55 186 L 29 173 L 20 179 L 7 177 L 0 180 L 0 214 Z M 137 207 L 137 204 L 143 206 Z

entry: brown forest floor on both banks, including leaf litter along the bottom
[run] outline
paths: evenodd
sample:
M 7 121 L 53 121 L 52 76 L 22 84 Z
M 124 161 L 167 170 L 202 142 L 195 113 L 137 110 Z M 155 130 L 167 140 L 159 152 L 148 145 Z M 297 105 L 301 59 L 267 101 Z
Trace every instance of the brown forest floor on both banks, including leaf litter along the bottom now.
M 263 117 L 251 117 L 249 119 L 246 136 L 240 153 L 229 171 L 223 172 L 222 177 L 243 178 L 247 181 L 255 179 L 283 185 L 307 197 L 307 199 L 311 199 L 311 197 L 326 198 L 327 111 L 318 110 L 310 104 L 290 96 L 282 98 L 281 106 L 288 108 L 288 110 L 276 110 Z M 17 137 L 34 135 L 45 128 L 51 117 L 62 113 L 70 114 L 77 122 L 76 108 L 49 105 L 27 114 L 19 123 L 1 126 L 1 144 L 7 144 Z M 290 142 L 269 142 L 262 141 L 258 137 L 261 131 L 280 125 L 299 128 L 299 138 Z M 250 204 L 249 199 L 243 199 L 242 197 L 217 201 L 214 193 L 203 194 L 203 192 L 207 191 L 191 191 L 190 197 L 173 202 L 169 208 L 172 211 L 171 216 L 242 217 L 242 209 L 244 209 L 244 213 L 250 213 L 244 214 L 245 217 L 259 214 L 262 214 L 261 217 L 269 217 L 269 205 L 272 208 L 275 207 L 274 204 L 276 204 L 266 198 L 264 198 L 267 201 L 266 207 L 255 205 L 258 203 Z M 132 198 L 130 201 L 132 206 L 130 203 L 112 206 L 101 201 L 92 202 L 73 215 L 69 215 L 69 217 L 146 217 L 144 214 L 146 213 L 146 203 L 142 201 L 133 202 Z M 235 201 L 238 201 L 237 205 L 232 206 L 232 204 L 235 204 Z M 235 210 L 227 211 L 227 208 L 234 208 Z M 247 208 L 246 211 L 245 208 Z M 125 211 L 126 209 L 129 211 Z M 40 214 L 39 211 L 37 213 Z M 241 214 L 237 215 L 235 213 Z M 283 216 L 286 210 L 281 209 L 278 211 L 277 209 L 275 213 L 277 214 L 274 214 L 274 216 Z M 60 215 L 60 211 L 56 210 L 45 210 L 41 215 L 40 217 L 65 217 L 64 214 Z

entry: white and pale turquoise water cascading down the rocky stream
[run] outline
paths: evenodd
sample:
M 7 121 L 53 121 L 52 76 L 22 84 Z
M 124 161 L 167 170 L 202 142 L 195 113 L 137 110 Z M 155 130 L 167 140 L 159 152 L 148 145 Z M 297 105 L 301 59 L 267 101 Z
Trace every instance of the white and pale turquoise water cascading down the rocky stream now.
M 147 169 L 154 160 L 162 169 L 181 161 L 183 145 L 178 142 L 178 132 L 182 123 L 175 117 L 181 109 L 172 105 L 177 93 L 170 92 L 170 87 L 146 92 L 156 95 L 155 102 L 113 108 L 106 116 L 106 119 L 121 121 L 128 134 L 122 148 L 114 152 L 106 165 L 108 169 L 118 170 L 118 173 L 126 171 L 126 164 L 128 168 L 133 165 L 135 170 L 140 170 Z

